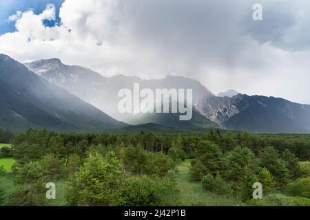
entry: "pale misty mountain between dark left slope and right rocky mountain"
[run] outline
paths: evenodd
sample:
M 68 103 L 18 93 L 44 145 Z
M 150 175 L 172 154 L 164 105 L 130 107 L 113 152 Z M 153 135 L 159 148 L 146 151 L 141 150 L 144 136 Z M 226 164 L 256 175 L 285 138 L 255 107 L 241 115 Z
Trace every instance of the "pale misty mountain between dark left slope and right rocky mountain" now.
M 93 104 L 108 115 L 111 115 L 113 118 L 127 123 L 132 123 L 133 121 L 135 122 L 134 124 L 138 122 L 155 122 L 151 119 L 142 120 L 142 118 L 145 119 L 145 115 L 143 115 L 143 117 L 141 116 L 141 119 L 138 119 L 137 115 L 134 116 L 130 113 L 119 113 L 117 111 L 118 102 L 121 100 L 121 98 L 118 98 L 118 91 L 123 88 L 133 89 L 134 83 L 138 83 L 140 89 L 149 88 L 153 91 L 155 91 L 155 89 L 174 88 L 193 89 L 194 103 L 198 103 L 198 100 L 204 97 L 214 96 L 211 91 L 203 87 L 198 81 L 180 76 L 167 76 L 159 80 L 143 80 L 135 76 L 123 76 L 120 74 L 107 78 L 84 67 L 64 65 L 58 59 L 34 61 L 32 63 L 25 63 L 25 66 L 50 83 L 63 87 L 70 93 Z M 170 116 L 176 119 L 172 114 Z M 162 117 L 166 118 L 166 115 L 163 116 L 158 114 L 156 116 L 156 118 Z M 172 118 L 171 121 L 179 124 L 178 120 L 173 120 Z M 164 125 L 171 125 L 171 123 L 168 123 L 166 120 L 160 121 L 162 121 Z M 205 118 L 205 122 L 206 120 Z M 201 121 L 200 126 L 205 127 L 205 122 Z M 183 122 L 181 124 L 186 123 L 192 124 L 192 122 Z M 198 125 L 199 122 L 195 124 Z M 208 122 L 207 124 L 214 123 Z

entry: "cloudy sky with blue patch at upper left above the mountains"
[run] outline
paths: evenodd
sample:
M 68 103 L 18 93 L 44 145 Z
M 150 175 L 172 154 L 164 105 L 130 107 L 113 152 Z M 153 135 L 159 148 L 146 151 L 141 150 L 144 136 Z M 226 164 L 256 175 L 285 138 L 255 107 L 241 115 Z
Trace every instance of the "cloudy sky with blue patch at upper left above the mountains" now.
M 309 10 L 309 0 L 1 0 L 0 53 L 310 104 Z

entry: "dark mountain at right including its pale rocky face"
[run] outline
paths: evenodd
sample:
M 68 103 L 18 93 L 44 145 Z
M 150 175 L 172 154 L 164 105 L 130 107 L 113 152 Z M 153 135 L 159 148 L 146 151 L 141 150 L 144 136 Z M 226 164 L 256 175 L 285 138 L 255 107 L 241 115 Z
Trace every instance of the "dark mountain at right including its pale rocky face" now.
M 310 105 L 238 94 L 200 100 L 198 111 L 227 129 L 253 133 L 310 133 Z

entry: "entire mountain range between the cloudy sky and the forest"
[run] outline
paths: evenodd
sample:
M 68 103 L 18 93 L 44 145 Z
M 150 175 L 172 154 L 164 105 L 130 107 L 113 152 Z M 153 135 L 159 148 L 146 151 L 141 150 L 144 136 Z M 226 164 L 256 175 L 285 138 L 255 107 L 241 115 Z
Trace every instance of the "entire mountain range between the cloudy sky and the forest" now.
M 11 79 L 6 75 L 12 75 Z M 12 80 L 21 76 L 25 79 Z M 0 77 L 3 83 L 1 89 L 4 89 L 1 91 L 0 101 L 5 103 L 5 108 L 1 106 L 0 110 L 6 111 L 8 115 L 7 122 L 4 123 L 2 119 L 0 126 L 15 124 L 17 127 L 22 122 L 23 127 L 104 130 L 122 128 L 125 123 L 154 123 L 171 128 L 221 128 L 251 133 L 310 133 L 308 104 L 298 104 L 282 98 L 248 96 L 238 94 L 232 89 L 216 96 L 197 80 L 180 76 L 166 76 L 158 80 L 123 75 L 105 77 L 85 67 L 65 65 L 58 58 L 21 65 L 8 56 L 1 55 Z M 141 89 L 192 89 L 192 120 L 179 121 L 179 113 L 119 113 L 117 104 L 121 98 L 118 97 L 118 91 L 123 88 L 132 89 L 134 83 L 139 83 Z M 11 99 L 11 96 L 15 99 Z M 34 112 L 25 111 L 32 115 L 32 118 L 25 118 L 25 115 L 15 111 L 18 107 L 12 108 L 14 104 L 25 104 L 23 102 L 29 102 L 38 109 Z M 44 115 L 46 120 L 42 120 L 37 113 Z M 21 120 L 19 115 L 24 120 Z

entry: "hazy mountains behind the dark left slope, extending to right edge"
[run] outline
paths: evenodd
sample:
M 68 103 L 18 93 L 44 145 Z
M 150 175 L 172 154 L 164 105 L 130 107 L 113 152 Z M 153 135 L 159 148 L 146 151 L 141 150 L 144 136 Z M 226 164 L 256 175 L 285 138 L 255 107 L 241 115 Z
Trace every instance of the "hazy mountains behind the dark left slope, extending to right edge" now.
M 197 80 L 166 76 L 159 80 L 143 80 L 136 76 L 105 77 L 90 69 L 64 65 L 58 59 L 25 63 L 33 72 L 50 83 L 93 104 L 117 120 L 130 124 L 156 123 L 165 126 L 212 127 L 253 133 L 310 133 L 310 105 L 289 102 L 282 98 L 247 96 L 229 90 L 215 96 Z M 118 91 L 132 89 L 193 89 L 193 118 L 179 122 L 177 113 L 144 115 L 121 114 L 117 111 Z

